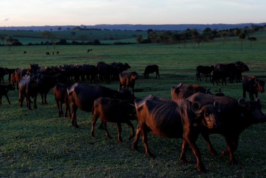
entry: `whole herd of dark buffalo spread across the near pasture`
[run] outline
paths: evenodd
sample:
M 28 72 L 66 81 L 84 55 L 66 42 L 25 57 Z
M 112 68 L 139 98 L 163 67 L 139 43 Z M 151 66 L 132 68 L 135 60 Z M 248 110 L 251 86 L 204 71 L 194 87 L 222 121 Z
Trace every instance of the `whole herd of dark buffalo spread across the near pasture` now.
M 72 126 L 79 128 L 76 122 L 76 111 L 80 108 L 83 111 L 92 112 L 92 130 L 91 136 L 94 137 L 94 127 L 97 119 L 101 118 L 99 128 L 106 132 L 107 138 L 111 139 L 108 133 L 106 123 L 117 123 L 118 141 L 122 141 L 121 123 L 127 123 L 132 133 L 129 139 L 135 137 L 132 149 L 137 149 L 139 137 L 142 138 L 146 154 L 152 156 L 147 143 L 147 133 L 159 135 L 166 138 L 183 139 L 182 152 L 180 160 L 186 161 L 186 151 L 188 145 L 191 146 L 196 158 L 199 172 L 204 172 L 204 165 L 200 158 L 200 151 L 196 145 L 199 134 L 202 135 L 209 147 L 211 154 L 217 154 L 212 146 L 209 134 L 217 133 L 225 137 L 228 150 L 222 151 L 223 155 L 230 155 L 230 161 L 235 164 L 237 160 L 234 157 L 234 151 L 237 149 L 240 133 L 248 126 L 256 123 L 266 122 L 266 115 L 262 112 L 262 105 L 258 98 L 258 92 L 265 91 L 265 80 L 259 80 L 255 76 L 243 76 L 243 71 L 249 71 L 247 65 L 238 61 L 228 65 L 218 64 L 215 67 L 198 66 L 197 79 L 200 79 L 200 73 L 206 74 L 206 81 L 209 75 L 210 81 L 217 85 L 219 79 L 222 84 L 229 77 L 230 83 L 236 78 L 236 82 L 243 85 L 243 98 L 238 101 L 225 96 L 219 88 L 219 92 L 212 94 L 209 90 L 198 84 L 187 85 L 180 83 L 171 88 L 172 100 L 158 98 L 150 95 L 139 99 L 134 96 L 134 84 L 138 79 L 135 71 L 126 72 L 130 69 L 129 64 L 111 63 L 105 64 L 98 62 L 96 65 L 62 65 L 53 67 L 39 67 L 37 64 L 30 64 L 29 69 L 0 68 L 0 79 L 2 82 L 5 74 L 9 75 L 9 83 L 0 85 L 0 104 L 2 96 L 5 96 L 8 103 L 7 92 L 19 89 L 20 107 L 26 99 L 26 107 L 31 109 L 31 97 L 34 98 L 34 108 L 36 109 L 36 97 L 40 93 L 41 104 L 46 104 L 46 95 L 53 88 L 55 100 L 58 107 L 58 115 L 67 117 L 67 111 Z M 211 72 L 212 79 L 211 79 Z M 159 75 L 157 65 L 147 66 L 144 71 L 144 77 L 149 78 L 149 73 L 156 72 Z M 112 90 L 100 85 L 88 85 L 78 83 L 87 80 L 96 82 L 99 80 L 120 81 L 120 88 Z M 69 84 L 70 80 L 76 83 Z M 240 81 L 240 79 L 242 79 Z M 218 82 L 217 82 L 218 80 Z M 1 82 L 1 81 L 0 81 Z M 132 92 L 129 90 L 132 88 Z M 246 92 L 249 92 L 250 101 L 246 101 Z M 253 95 L 256 95 L 254 100 Z M 65 113 L 62 104 L 65 103 Z M 71 112 L 70 112 L 71 106 Z M 137 120 L 138 126 L 136 134 L 131 120 Z

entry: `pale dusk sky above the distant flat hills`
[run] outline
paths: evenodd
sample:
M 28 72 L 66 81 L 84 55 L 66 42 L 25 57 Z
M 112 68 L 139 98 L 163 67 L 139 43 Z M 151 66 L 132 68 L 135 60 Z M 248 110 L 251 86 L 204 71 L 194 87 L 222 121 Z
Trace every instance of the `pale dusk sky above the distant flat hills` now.
M 0 27 L 266 22 L 266 0 L 0 0 Z

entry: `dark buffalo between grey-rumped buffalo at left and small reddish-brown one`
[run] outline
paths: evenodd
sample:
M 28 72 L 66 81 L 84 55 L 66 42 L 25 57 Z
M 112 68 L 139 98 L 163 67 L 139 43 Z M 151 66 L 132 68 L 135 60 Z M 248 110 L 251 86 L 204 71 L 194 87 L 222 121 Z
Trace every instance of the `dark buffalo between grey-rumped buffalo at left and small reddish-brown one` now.
M 47 104 L 46 96 L 51 88 L 58 83 L 67 83 L 69 80 L 62 74 L 56 74 L 55 76 L 41 75 L 41 82 L 43 87 L 39 90 L 41 96 L 41 104 Z M 43 99 L 44 96 L 44 99 Z

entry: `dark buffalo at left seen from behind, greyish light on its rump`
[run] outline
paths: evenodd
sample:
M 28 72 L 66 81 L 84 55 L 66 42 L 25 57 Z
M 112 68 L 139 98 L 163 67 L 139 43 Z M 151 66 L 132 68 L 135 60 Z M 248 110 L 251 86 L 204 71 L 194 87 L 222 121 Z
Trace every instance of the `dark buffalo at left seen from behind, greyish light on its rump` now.
M 36 99 L 40 88 L 43 87 L 41 81 L 41 74 L 34 75 L 33 73 L 23 76 L 18 81 L 19 84 L 19 101 L 20 107 L 23 105 L 24 98 L 26 98 L 26 107 L 32 110 L 31 98 L 34 97 L 34 109 L 37 109 Z

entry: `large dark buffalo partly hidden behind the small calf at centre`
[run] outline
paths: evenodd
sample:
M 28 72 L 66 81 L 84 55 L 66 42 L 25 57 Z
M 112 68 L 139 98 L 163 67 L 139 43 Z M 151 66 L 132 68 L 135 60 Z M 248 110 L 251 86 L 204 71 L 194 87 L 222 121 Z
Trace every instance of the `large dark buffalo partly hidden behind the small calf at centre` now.
M 76 122 L 77 109 L 80 108 L 86 112 L 92 112 L 94 101 L 99 97 L 124 100 L 131 104 L 134 104 L 134 100 L 136 99 L 127 88 L 116 91 L 104 86 L 90 86 L 80 83 L 75 83 L 71 87 L 68 87 L 67 94 L 72 110 L 71 123 L 76 128 L 79 128 Z

